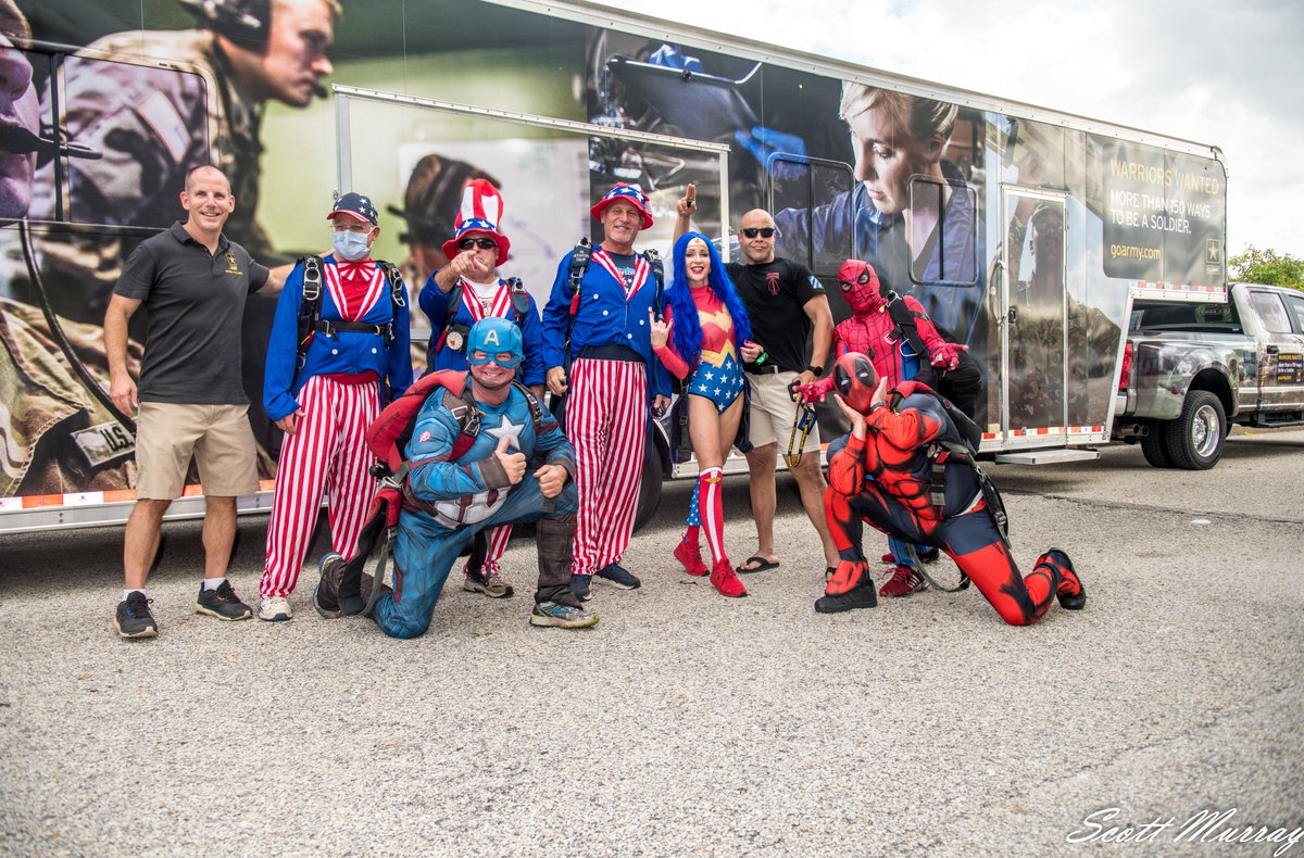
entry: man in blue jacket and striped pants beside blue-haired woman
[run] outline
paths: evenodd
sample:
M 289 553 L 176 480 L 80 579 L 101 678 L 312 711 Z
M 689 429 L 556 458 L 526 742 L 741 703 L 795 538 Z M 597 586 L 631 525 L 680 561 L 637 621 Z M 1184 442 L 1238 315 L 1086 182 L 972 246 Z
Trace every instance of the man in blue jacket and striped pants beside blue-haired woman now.
M 602 243 L 578 288 L 575 252 L 562 258 L 544 306 L 548 389 L 554 396 L 570 391 L 566 436 L 579 489 L 571 589 L 583 600 L 595 574 L 621 589 L 640 584 L 621 557 L 634 532 L 649 399 L 656 413 L 670 406 L 648 325 L 649 310 L 661 312 L 656 278 L 634 252 L 639 231 L 652 226 L 648 198 L 638 185 L 618 184 L 589 213 L 602 223 Z

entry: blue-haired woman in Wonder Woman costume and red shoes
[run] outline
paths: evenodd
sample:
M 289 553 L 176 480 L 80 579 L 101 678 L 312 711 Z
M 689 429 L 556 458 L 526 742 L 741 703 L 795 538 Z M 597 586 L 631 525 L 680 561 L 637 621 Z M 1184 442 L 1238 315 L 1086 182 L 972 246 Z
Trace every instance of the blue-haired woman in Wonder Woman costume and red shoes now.
M 705 575 L 698 542 L 699 528 L 705 529 L 712 585 L 722 596 L 746 596 L 747 588 L 725 554 L 720 481 L 745 408 L 747 385 L 738 349 L 748 342 L 751 326 L 720 254 L 704 235 L 682 235 L 674 243 L 673 261 L 665 317 L 649 319 L 652 348 L 665 368 L 685 382 L 689 437 L 698 459 L 698 490 L 674 557 L 690 575 Z

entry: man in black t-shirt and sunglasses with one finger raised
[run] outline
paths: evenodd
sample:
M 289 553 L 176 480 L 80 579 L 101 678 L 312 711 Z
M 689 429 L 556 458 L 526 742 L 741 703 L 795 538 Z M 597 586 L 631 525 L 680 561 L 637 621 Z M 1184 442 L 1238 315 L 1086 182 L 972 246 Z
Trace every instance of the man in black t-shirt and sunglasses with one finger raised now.
M 690 184 L 679 200 L 675 239 L 689 231 L 695 210 L 696 188 Z M 748 441 L 752 449 L 747 454 L 747 471 L 751 476 L 751 514 L 756 522 L 756 553 L 738 567 L 739 572 L 778 566 L 775 552 L 775 469 L 778 447 L 782 445 L 788 450 L 797 420 L 797 403 L 789 394 L 789 386 L 793 382 L 807 385 L 819 378 L 833 343 L 833 314 L 824 286 L 805 265 L 775 256 L 776 233 L 775 219 L 768 211 L 748 211 L 738 226 L 738 241 L 747 262 L 725 265 L 747 306 L 752 336 L 743 344 L 742 357 L 751 402 Z M 806 340 L 812 329 L 814 347 L 807 360 Z M 824 518 L 825 482 L 819 451 L 816 425 L 802 446 L 802 452 L 807 455 L 802 455 L 792 472 L 801 489 L 806 515 L 823 542 L 825 572 L 829 572 L 837 566 L 837 549 Z

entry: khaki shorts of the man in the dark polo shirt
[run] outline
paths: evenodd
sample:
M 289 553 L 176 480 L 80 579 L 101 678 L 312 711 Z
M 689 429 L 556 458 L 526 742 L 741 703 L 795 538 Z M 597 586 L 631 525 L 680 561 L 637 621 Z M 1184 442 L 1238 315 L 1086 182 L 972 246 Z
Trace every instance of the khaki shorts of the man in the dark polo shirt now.
M 142 402 L 136 417 L 136 497 L 181 497 L 190 458 L 203 493 L 239 497 L 258 490 L 258 460 L 249 406 Z

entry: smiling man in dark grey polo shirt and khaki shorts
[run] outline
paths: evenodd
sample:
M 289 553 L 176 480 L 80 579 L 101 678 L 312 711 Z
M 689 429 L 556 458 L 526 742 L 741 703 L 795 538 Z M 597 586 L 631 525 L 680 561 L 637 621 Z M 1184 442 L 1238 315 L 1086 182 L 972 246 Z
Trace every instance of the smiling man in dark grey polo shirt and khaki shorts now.
M 185 223 L 143 241 L 128 258 L 104 314 L 110 395 L 123 413 L 140 406 L 136 507 L 126 522 L 125 588 L 113 621 L 123 638 L 153 638 L 145 580 L 158 550 L 163 514 L 181 496 L 193 455 L 203 485 L 203 584 L 196 613 L 249 619 L 253 612 L 227 582 L 236 497 L 258 490 L 249 399 L 240 382 L 240 325 L 245 299 L 275 292 L 275 275 L 254 262 L 222 227 L 235 210 L 226 173 L 196 167 L 185 177 Z M 150 314 L 140 386 L 126 370 L 126 325 Z

